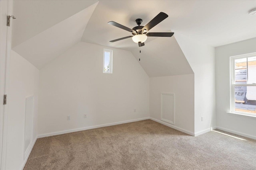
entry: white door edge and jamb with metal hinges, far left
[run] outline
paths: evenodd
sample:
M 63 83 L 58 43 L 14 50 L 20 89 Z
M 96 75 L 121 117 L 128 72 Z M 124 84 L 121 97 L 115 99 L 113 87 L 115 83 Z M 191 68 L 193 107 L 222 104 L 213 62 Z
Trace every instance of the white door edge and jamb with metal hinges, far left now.
M 7 16 L 12 15 L 12 0 L 0 0 L 0 170 L 5 169 L 8 101 L 8 75 L 12 39 L 12 19 L 7 26 Z

